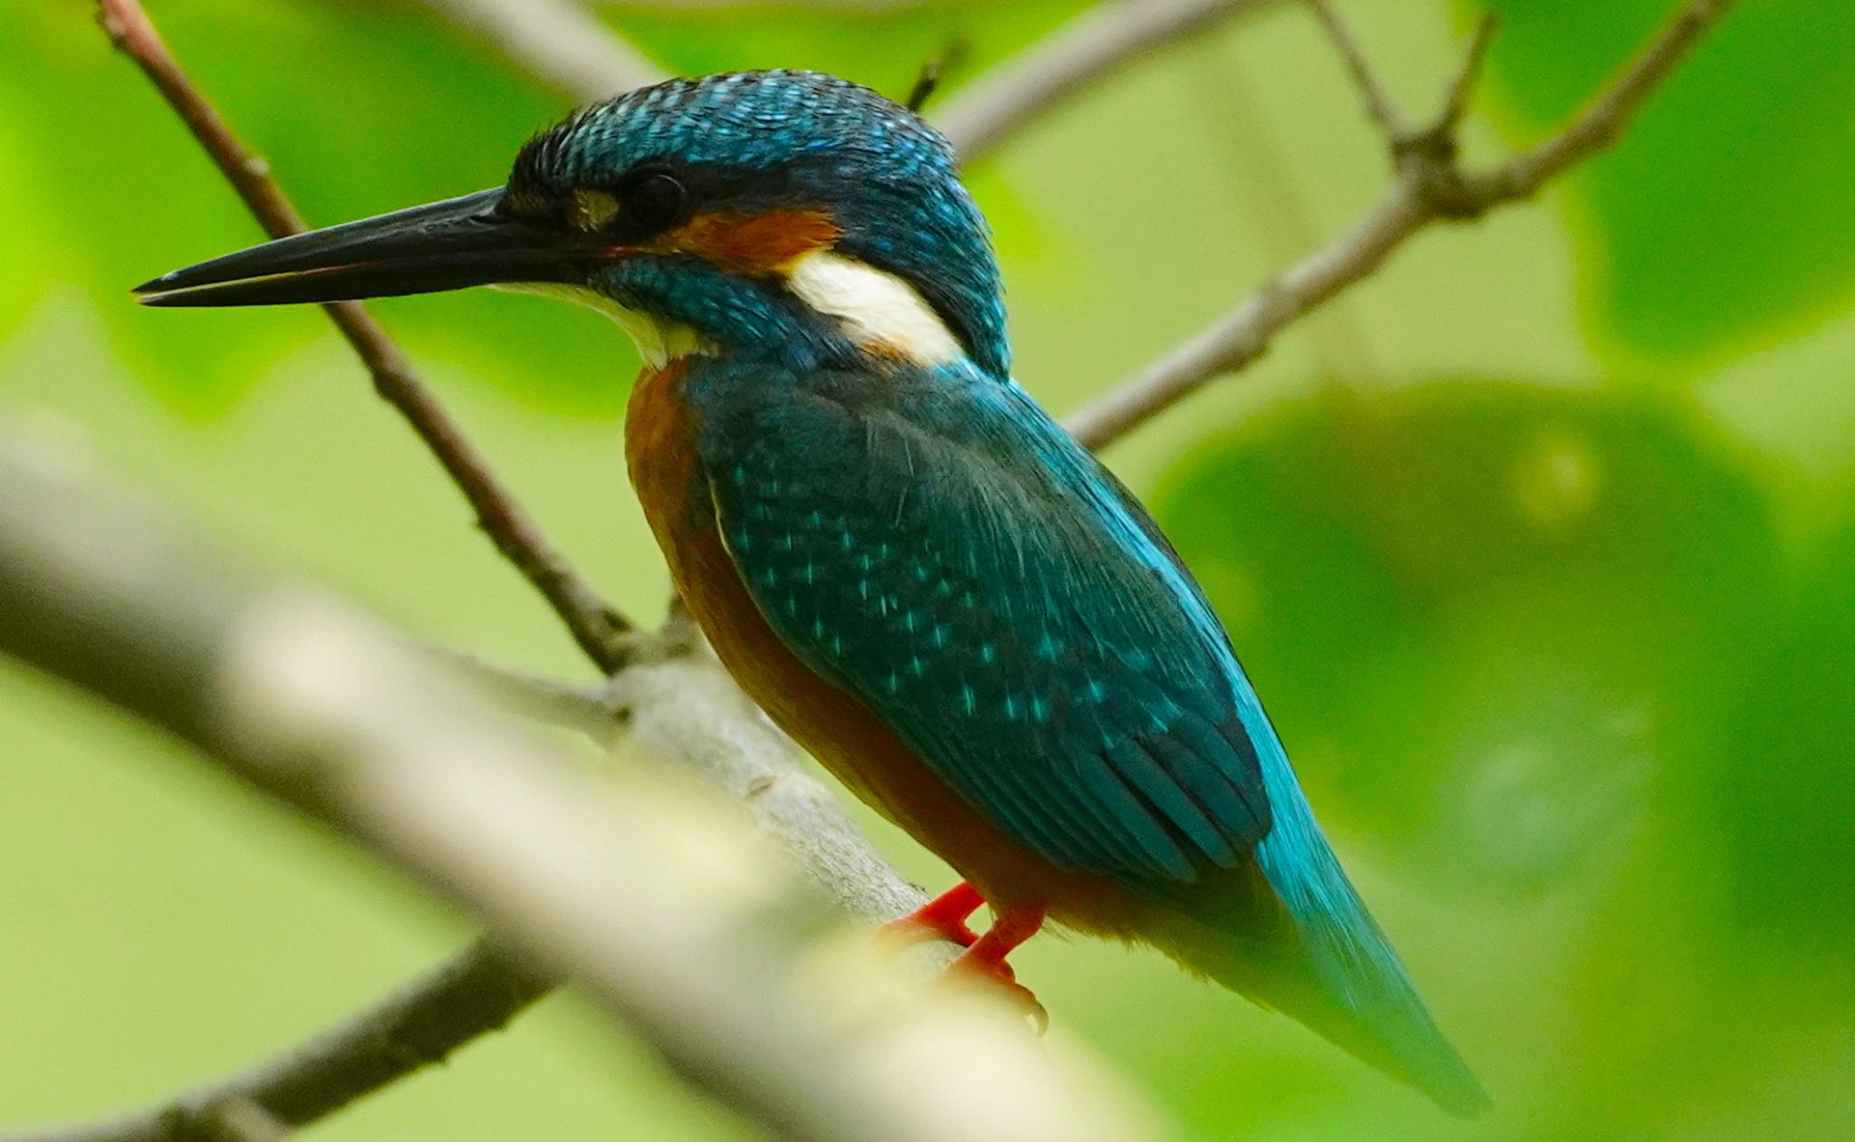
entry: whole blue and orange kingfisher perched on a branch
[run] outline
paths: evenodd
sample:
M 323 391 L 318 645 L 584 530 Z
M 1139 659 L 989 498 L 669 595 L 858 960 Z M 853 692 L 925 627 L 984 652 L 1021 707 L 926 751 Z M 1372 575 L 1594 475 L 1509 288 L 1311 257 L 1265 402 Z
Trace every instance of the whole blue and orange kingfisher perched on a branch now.
M 918 115 L 818 72 L 670 80 L 542 132 L 503 185 L 137 293 L 469 286 L 571 297 L 636 341 L 625 458 L 688 614 L 963 877 L 896 931 L 1005 988 L 1046 923 L 1148 944 L 1447 1110 L 1484 1107 L 1204 591 L 1013 380 L 991 234 Z

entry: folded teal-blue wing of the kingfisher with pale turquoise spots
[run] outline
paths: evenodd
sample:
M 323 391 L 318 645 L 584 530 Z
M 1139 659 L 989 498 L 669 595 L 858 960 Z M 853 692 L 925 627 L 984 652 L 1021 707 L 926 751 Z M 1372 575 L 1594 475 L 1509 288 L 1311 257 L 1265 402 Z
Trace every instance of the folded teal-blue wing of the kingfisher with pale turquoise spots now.
M 1222 634 L 1020 389 L 707 371 L 690 399 L 768 621 L 994 825 L 1133 888 L 1252 856 L 1271 806 Z

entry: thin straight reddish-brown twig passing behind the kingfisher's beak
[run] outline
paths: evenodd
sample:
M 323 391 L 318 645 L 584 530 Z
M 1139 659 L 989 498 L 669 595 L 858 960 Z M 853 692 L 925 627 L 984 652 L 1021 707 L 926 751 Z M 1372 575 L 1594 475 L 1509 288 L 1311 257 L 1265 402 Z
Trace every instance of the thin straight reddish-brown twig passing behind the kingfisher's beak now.
M 148 76 L 167 104 L 180 115 L 213 165 L 226 176 L 239 198 L 271 237 L 306 230 L 302 215 L 271 178 L 271 167 L 245 146 L 219 111 L 200 95 L 167 50 L 161 35 L 137 0 L 98 0 L 104 32 L 122 54 Z M 445 413 L 443 406 L 414 371 L 406 354 L 386 336 L 358 302 L 323 306 L 330 321 L 360 356 L 373 386 L 399 410 L 425 447 L 438 456 L 451 480 L 477 514 L 495 549 L 553 604 L 555 614 L 605 673 L 618 671 L 629 653 L 631 625 L 612 610 L 573 571 L 566 558 L 542 536 L 516 499 L 490 473 L 488 463 Z

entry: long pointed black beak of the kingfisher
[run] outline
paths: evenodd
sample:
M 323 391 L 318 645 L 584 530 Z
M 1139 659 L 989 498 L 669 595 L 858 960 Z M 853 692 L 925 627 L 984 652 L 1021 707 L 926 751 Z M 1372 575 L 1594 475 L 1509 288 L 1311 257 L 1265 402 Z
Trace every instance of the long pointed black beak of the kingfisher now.
M 497 209 L 501 187 L 295 234 L 135 287 L 145 306 L 280 306 L 493 282 L 584 282 L 601 250 Z

